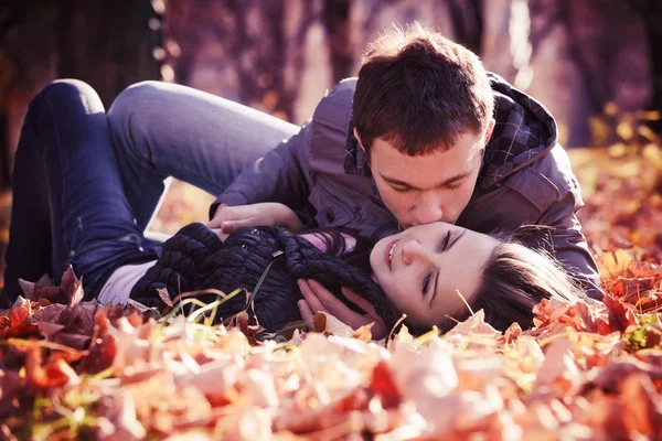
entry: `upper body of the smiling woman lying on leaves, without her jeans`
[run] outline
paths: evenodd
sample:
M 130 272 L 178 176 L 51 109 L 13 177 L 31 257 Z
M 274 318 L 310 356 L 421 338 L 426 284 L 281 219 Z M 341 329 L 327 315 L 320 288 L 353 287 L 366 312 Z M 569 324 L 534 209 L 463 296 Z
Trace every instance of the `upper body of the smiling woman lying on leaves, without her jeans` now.
M 350 233 L 293 235 L 280 227 L 239 228 L 222 241 L 204 225 L 191 224 L 164 244 L 161 258 L 130 295 L 157 306 L 161 303 L 158 288 L 167 288 L 171 298 L 207 288 L 252 291 L 269 267 L 253 306 L 260 324 L 271 332 L 301 318 L 309 321 L 325 309 L 310 295 L 310 284 L 316 283 L 350 306 L 357 305 L 353 324 L 375 322 L 375 336 L 385 335 L 402 313 L 407 314 L 407 324 L 420 331 L 433 325 L 447 330 L 471 310 L 481 309 L 499 330 L 513 322 L 526 329 L 533 325 L 532 309 L 542 299 L 583 298 L 553 259 L 520 243 L 536 235 L 541 232 L 524 227 L 520 237 L 496 238 L 434 223 L 369 247 Z M 99 299 L 109 301 L 115 295 L 124 302 L 128 291 L 111 294 L 111 286 L 106 283 L 108 291 Z M 307 302 L 300 301 L 299 289 Z M 215 299 L 213 294 L 202 298 Z M 245 308 L 244 298 L 237 297 L 221 308 L 221 314 Z

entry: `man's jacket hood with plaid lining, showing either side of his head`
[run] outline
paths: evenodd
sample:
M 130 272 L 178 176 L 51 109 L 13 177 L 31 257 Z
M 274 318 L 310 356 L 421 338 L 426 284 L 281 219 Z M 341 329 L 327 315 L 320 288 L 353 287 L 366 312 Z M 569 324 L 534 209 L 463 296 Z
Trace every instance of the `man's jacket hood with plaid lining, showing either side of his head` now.
M 511 86 L 496 74 L 488 73 L 494 93 L 494 131 L 485 147 L 485 157 L 477 183 L 483 191 L 535 162 L 556 143 L 556 121 L 541 103 Z M 354 137 L 350 119 L 344 170 L 371 176 L 370 165 Z

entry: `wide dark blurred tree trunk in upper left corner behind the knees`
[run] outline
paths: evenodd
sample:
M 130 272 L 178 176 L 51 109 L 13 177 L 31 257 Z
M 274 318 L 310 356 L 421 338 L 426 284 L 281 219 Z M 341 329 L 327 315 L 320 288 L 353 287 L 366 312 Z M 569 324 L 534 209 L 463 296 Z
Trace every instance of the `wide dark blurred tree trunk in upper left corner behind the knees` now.
M 0 2 L 0 189 L 10 185 L 11 159 L 28 105 L 50 82 L 83 79 L 109 106 L 132 83 L 160 77 L 153 52 L 159 53 L 161 21 L 151 4 Z

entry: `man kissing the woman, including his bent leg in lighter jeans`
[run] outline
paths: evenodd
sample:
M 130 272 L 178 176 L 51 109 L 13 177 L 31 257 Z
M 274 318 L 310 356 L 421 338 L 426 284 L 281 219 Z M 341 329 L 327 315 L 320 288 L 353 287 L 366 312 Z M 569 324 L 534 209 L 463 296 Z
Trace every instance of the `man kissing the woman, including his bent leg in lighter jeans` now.
M 53 90 L 42 94 L 58 109 L 53 118 L 73 118 L 68 101 L 56 101 Z M 84 132 L 84 139 L 62 142 L 109 138 L 140 230 L 158 206 L 167 176 L 220 194 L 209 226 L 225 233 L 247 225 L 344 227 L 376 241 L 437 220 L 482 233 L 547 225 L 549 250 L 600 297 L 596 266 L 575 217 L 583 205 L 579 187 L 556 142 L 552 116 L 487 74 L 470 51 L 418 24 L 378 39 L 359 78 L 338 85 L 300 129 L 223 98 L 156 82 L 120 94 L 107 122 L 72 130 Z M 47 204 L 22 200 L 35 201 L 23 209 L 44 212 L 39 222 L 47 228 Z M 20 243 L 14 240 L 13 248 Z M 149 244 L 124 243 L 135 243 L 127 251 L 131 262 L 154 259 Z M 57 272 L 44 258 L 50 249 L 18 251 L 8 251 L 7 292 L 19 290 L 19 277 L 36 280 Z M 38 259 L 43 262 L 35 265 Z M 145 271 L 138 266 L 109 280 L 138 280 Z M 302 281 L 301 289 L 313 311 L 356 323 L 354 313 L 318 283 Z

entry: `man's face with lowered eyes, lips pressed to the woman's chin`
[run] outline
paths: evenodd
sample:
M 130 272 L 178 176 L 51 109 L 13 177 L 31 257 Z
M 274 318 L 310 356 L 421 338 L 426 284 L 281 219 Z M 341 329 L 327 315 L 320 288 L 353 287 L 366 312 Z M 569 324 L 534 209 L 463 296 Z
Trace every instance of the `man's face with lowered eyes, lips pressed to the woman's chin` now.
M 487 136 L 468 132 L 451 149 L 423 157 L 401 153 L 382 138 L 374 140 L 370 150 L 373 179 L 403 227 L 456 223 L 476 187 L 492 127 L 493 122 Z

